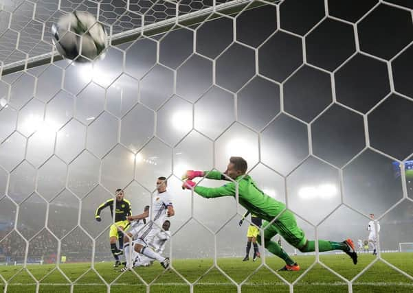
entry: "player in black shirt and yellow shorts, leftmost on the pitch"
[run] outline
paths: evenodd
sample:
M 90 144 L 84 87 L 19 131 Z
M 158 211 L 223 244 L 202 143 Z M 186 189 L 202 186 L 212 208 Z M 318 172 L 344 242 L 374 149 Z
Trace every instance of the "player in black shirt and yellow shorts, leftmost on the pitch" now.
M 115 264 L 113 265 L 113 267 L 118 267 L 121 264 L 119 256 L 123 254 L 122 231 L 126 230 L 126 228 L 128 228 L 129 226 L 128 217 L 129 215 L 132 215 L 132 207 L 131 202 L 124 198 L 124 191 L 122 189 L 116 189 L 115 196 L 115 204 L 115 200 L 113 200 L 113 198 L 100 204 L 98 209 L 96 209 L 95 219 L 98 222 L 102 221 L 102 219 L 100 218 L 100 212 L 106 207 L 109 207 L 109 209 L 111 210 L 111 215 L 113 218 L 113 206 L 115 206 L 115 224 L 111 224 L 111 228 L 109 230 L 109 242 L 111 244 L 112 255 L 115 258 Z M 117 240 L 119 240 L 119 249 L 118 246 L 116 246 Z

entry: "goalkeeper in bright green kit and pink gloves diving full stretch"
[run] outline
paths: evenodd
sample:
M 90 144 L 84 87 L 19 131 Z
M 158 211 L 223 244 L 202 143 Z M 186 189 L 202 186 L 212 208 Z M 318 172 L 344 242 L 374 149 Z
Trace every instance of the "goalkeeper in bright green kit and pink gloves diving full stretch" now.
M 293 261 L 287 253 L 276 242 L 271 241 L 271 238 L 276 234 L 281 235 L 289 244 L 298 248 L 302 253 L 315 251 L 315 241 L 306 239 L 304 231 L 297 226 L 295 216 L 291 211 L 286 210 L 285 204 L 267 196 L 257 186 L 251 176 L 246 175 L 247 161 L 239 156 L 232 156 L 230 163 L 227 166 L 225 175 L 232 178 L 238 183 L 238 200 L 239 203 L 253 213 L 258 218 L 263 219 L 264 243 L 265 248 L 269 252 L 277 255 L 285 261 L 285 266 L 280 270 L 300 270 L 298 263 Z M 214 180 L 227 180 L 227 178 L 218 171 L 187 171 L 183 175 L 183 189 L 193 189 L 203 198 L 219 198 L 221 196 L 236 196 L 236 183 L 229 182 L 221 187 L 210 188 L 195 186 L 192 181 L 195 177 L 203 177 Z M 274 220 L 276 218 L 276 220 Z M 271 222 L 273 221 L 274 222 Z M 270 224 L 271 223 L 271 224 Z M 261 243 L 261 237 L 258 237 L 258 243 Z M 351 239 L 346 239 L 344 242 L 331 242 L 326 240 L 318 240 L 318 250 L 342 250 L 353 259 L 353 263 L 357 263 L 357 253 L 355 252 L 354 244 Z

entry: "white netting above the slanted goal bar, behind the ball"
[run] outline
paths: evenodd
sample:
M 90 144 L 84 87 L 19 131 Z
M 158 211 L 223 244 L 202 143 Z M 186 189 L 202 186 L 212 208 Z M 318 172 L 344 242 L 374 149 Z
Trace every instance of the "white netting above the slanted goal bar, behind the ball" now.
M 216 5 L 227 1 L 217 1 Z M 243 2 L 243 1 L 232 1 Z M 246 2 L 246 1 L 244 1 Z M 52 51 L 53 23 L 63 14 L 88 11 L 111 27 L 113 38 L 186 14 L 203 13 L 212 1 L 2 1 L 0 14 L 0 60 L 5 65 Z M 173 23 L 173 20 L 172 20 Z

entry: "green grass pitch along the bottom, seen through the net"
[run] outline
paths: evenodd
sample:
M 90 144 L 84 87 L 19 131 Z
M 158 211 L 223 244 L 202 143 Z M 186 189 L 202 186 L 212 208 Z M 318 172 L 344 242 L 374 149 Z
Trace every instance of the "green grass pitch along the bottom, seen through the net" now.
M 404 272 L 413 275 L 413 253 L 383 253 L 382 258 L 392 263 Z M 315 256 L 299 256 L 295 259 L 300 263 L 300 272 L 279 272 L 280 276 L 289 282 L 295 281 L 315 261 Z M 320 261 L 347 279 L 353 279 L 361 270 L 375 260 L 372 255 L 360 255 L 359 263 L 354 266 L 347 255 L 320 255 Z M 283 266 L 280 259 L 267 257 L 269 268 L 277 270 Z M 175 259 L 173 266 L 183 277 L 194 282 L 203 276 L 196 285 L 194 292 L 236 292 L 236 286 L 218 269 L 212 268 L 212 259 Z M 261 262 L 243 262 L 241 258 L 217 259 L 218 266 L 237 283 L 245 281 L 242 292 L 289 292 L 289 287 L 282 283 L 269 269 L 262 266 L 255 274 Z M 90 263 L 67 263 L 60 265 L 61 270 L 74 283 L 74 292 L 107 292 L 107 286 L 90 270 Z M 146 292 L 146 287 L 133 272 L 125 272 L 120 276 L 119 269 L 113 269 L 112 263 L 96 263 L 96 270 L 102 278 L 111 283 L 111 292 Z M 41 281 L 39 292 L 70 292 L 70 283 L 53 265 L 29 265 L 27 270 L 36 279 L 47 277 Z M 34 292 L 36 283 L 22 266 L 1 266 L 0 274 L 8 281 L 7 292 Z M 149 268 L 135 269 L 144 281 L 153 285 L 150 292 L 190 292 L 189 285 L 175 272 L 164 273 L 159 263 Z M 205 272 L 208 272 L 205 274 Z M 160 277 L 157 278 L 157 276 Z M 14 276 L 14 277 L 13 277 Z M 120 276 L 120 277 L 119 277 Z M 118 279 L 116 279 L 119 277 Z M 156 279 L 157 278 L 157 279 Z M 247 279 L 248 278 L 248 279 Z M 54 283 L 55 285 L 51 285 Z M 0 290 L 4 290 L 0 280 Z M 294 292 L 348 292 L 348 285 L 316 263 L 309 272 L 294 285 Z M 353 292 L 413 292 L 413 281 L 378 260 L 373 266 L 353 283 Z

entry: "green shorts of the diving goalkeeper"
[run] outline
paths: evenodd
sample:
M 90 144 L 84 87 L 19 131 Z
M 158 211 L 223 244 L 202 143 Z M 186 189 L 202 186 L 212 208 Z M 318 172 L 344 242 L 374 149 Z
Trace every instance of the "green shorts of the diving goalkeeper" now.
M 277 218 L 272 224 L 269 225 L 268 221 L 263 221 L 264 239 L 265 242 L 269 241 L 272 237 L 279 234 L 289 244 L 295 248 L 302 248 L 306 243 L 304 231 L 297 226 L 295 216 L 291 211 L 287 210 Z

